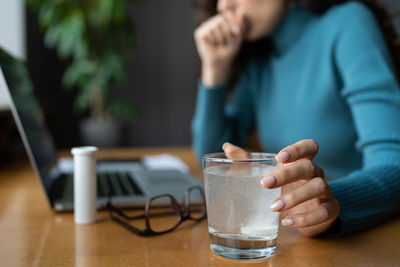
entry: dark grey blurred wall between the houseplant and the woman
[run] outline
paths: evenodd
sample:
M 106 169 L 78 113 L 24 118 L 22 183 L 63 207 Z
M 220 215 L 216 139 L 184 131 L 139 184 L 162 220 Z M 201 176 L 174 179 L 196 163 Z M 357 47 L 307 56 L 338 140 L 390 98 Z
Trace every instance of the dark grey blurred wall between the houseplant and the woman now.
M 131 14 L 139 40 L 127 83 L 117 92 L 139 108 L 127 145 L 189 145 L 198 69 L 195 10 L 190 0 L 146 0 Z

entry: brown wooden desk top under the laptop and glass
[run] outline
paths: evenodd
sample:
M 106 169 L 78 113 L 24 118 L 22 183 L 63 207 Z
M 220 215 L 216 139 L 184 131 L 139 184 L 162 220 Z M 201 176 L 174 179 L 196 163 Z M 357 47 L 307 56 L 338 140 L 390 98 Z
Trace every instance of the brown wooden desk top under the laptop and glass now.
M 171 153 L 201 178 L 188 148 L 106 151 L 103 156 Z M 0 172 L 0 266 L 227 266 L 243 261 L 214 255 L 207 222 L 185 222 L 172 233 L 138 237 L 100 212 L 77 226 L 72 213 L 54 213 L 27 162 Z M 249 261 L 244 261 L 249 263 Z M 262 266 L 400 266 L 400 220 L 340 239 L 312 239 L 281 227 L 278 250 Z

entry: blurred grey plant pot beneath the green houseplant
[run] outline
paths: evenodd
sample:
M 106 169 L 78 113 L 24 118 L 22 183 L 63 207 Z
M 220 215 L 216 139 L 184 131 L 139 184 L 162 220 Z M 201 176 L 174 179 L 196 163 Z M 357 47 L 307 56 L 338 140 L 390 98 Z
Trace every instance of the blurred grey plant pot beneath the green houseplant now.
M 121 142 L 121 123 L 112 119 L 84 119 L 80 125 L 84 145 L 116 147 Z

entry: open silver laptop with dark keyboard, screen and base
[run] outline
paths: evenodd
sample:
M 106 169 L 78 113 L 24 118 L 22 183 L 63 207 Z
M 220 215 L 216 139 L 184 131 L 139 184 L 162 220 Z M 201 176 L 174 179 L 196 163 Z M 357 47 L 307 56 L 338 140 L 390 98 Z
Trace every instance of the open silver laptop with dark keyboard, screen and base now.
M 24 64 L 21 63 L 24 68 Z M 25 69 L 26 71 L 26 69 Z M 10 109 L 29 160 L 39 178 L 50 207 L 57 212 L 73 210 L 73 160 L 58 158 L 43 113 L 32 86 L 14 85 L 0 66 L 0 90 Z M 177 169 L 149 169 L 140 160 L 97 162 L 97 207 L 105 208 L 111 197 L 119 207 L 142 207 L 160 194 L 172 194 L 182 201 L 187 188 L 203 186 L 190 173 Z M 200 194 L 193 196 L 201 200 Z

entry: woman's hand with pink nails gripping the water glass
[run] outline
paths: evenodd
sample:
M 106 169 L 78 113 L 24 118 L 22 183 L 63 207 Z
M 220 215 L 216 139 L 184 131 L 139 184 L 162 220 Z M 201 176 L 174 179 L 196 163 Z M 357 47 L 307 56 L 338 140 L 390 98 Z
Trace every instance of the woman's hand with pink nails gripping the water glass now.
M 245 155 L 242 149 L 229 143 L 224 144 L 223 150 L 228 157 Z M 281 196 L 271 204 L 273 211 L 280 212 L 282 224 L 306 236 L 327 230 L 340 211 L 339 202 L 324 180 L 323 170 L 312 162 L 317 152 L 314 140 L 290 145 L 277 156 L 284 166 L 262 179 L 265 188 L 282 187 Z

